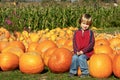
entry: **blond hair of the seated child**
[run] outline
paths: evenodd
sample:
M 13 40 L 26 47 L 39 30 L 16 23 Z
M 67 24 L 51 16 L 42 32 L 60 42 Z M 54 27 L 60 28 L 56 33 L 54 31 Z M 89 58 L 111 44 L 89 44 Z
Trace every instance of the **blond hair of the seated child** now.
M 81 24 L 81 22 L 85 22 L 86 24 L 88 25 L 92 25 L 92 18 L 91 18 L 91 15 L 89 14 L 83 14 L 81 16 L 81 18 L 79 19 L 79 23 Z

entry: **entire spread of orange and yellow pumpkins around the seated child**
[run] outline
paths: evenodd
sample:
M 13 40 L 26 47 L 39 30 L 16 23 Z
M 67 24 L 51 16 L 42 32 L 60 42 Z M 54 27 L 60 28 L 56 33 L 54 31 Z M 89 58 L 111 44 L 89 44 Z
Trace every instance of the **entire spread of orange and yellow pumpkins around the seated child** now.
M 37 32 L 10 33 L 0 28 L 0 68 L 19 69 L 22 73 L 41 73 L 47 67 L 53 73 L 69 71 L 73 55 L 72 38 L 77 28 L 45 29 Z M 94 54 L 88 60 L 90 75 L 120 78 L 120 34 L 95 32 Z M 80 68 L 78 74 L 81 75 Z

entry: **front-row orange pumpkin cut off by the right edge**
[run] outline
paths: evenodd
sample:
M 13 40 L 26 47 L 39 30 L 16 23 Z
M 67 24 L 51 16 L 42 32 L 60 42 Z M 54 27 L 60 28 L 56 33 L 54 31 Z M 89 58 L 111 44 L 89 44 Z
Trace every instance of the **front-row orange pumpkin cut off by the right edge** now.
M 120 78 L 120 54 L 115 55 L 112 67 L 114 75 Z

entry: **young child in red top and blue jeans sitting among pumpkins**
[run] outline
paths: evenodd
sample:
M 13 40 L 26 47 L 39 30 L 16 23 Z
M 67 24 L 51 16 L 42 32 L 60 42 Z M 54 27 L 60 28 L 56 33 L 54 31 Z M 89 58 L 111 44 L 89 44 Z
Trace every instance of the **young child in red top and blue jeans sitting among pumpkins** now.
M 81 28 L 76 30 L 73 36 L 73 50 L 72 63 L 70 66 L 69 76 L 77 75 L 78 67 L 81 69 L 81 76 L 89 75 L 87 60 L 93 54 L 93 47 L 95 43 L 93 31 L 89 29 L 92 24 L 92 18 L 89 14 L 83 14 L 79 20 Z

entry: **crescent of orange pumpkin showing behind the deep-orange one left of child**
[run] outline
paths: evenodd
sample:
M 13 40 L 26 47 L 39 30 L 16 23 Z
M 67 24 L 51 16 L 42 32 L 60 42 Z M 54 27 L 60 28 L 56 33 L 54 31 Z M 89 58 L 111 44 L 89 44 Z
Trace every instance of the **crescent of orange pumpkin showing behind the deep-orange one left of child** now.
M 52 47 L 52 48 L 47 49 L 44 52 L 43 59 L 44 59 L 44 63 L 45 63 L 46 66 L 48 66 L 48 60 L 56 49 L 57 48 Z

